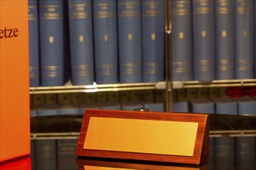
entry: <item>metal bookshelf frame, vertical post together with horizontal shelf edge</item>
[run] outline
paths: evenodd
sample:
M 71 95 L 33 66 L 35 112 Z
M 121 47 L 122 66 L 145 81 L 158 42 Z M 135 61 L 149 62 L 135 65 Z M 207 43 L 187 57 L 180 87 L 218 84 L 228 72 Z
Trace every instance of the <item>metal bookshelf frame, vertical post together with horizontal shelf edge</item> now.
M 156 83 L 111 83 L 92 85 L 72 85 L 71 82 L 65 83 L 63 86 L 56 87 L 30 87 L 30 96 L 39 94 L 61 94 L 61 93 L 99 93 L 99 92 L 120 92 L 120 91 L 162 91 L 161 97 L 164 103 L 165 111 L 172 111 L 173 93 L 175 90 L 191 89 L 191 88 L 225 88 L 225 87 L 256 87 L 256 79 L 244 80 L 211 80 L 211 81 L 177 81 L 173 80 L 172 75 L 172 48 L 175 42 L 172 42 L 171 35 L 174 33 L 172 26 L 171 2 L 175 0 L 164 0 L 164 76 L 165 80 Z

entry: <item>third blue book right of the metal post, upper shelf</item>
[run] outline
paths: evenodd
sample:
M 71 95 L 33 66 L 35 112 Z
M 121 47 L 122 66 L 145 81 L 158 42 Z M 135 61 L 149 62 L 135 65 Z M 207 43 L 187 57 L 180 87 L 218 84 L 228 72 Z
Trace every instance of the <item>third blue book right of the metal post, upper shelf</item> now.
M 216 80 L 234 79 L 234 1 L 216 0 Z

